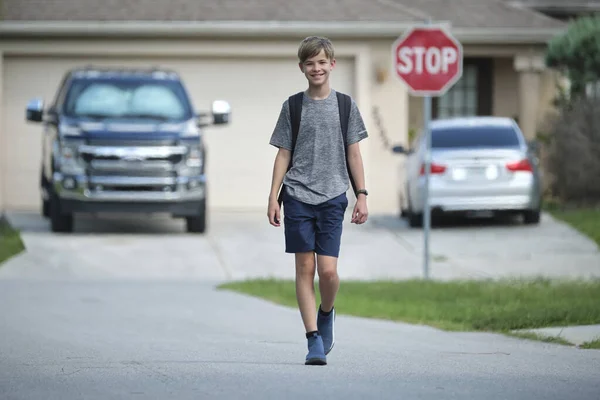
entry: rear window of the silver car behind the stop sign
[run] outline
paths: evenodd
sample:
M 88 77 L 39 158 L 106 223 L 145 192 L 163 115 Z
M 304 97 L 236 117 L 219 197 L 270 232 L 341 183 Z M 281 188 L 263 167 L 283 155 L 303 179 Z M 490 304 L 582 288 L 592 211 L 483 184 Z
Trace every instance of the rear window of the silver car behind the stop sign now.
M 434 149 L 517 147 L 519 145 L 518 132 L 512 126 L 444 127 L 431 131 L 431 147 Z

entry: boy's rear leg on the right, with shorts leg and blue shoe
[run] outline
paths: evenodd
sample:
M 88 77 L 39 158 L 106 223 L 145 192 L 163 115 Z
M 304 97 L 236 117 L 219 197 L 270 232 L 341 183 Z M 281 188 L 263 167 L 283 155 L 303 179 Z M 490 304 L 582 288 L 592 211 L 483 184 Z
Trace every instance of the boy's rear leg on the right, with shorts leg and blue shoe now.
M 317 329 L 323 336 L 325 354 L 335 344 L 335 298 L 340 280 L 337 261 L 340 252 L 344 214 L 348 207 L 346 194 L 321 205 L 317 213 L 316 252 L 321 305 L 317 313 Z

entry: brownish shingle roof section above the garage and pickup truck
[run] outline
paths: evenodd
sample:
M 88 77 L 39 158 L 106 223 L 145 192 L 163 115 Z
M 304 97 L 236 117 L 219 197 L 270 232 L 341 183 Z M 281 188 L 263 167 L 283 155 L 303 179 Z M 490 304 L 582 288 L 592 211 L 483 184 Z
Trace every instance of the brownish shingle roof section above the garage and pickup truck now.
M 380 0 L 4 0 L 11 21 L 410 21 Z

